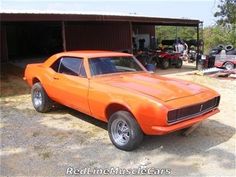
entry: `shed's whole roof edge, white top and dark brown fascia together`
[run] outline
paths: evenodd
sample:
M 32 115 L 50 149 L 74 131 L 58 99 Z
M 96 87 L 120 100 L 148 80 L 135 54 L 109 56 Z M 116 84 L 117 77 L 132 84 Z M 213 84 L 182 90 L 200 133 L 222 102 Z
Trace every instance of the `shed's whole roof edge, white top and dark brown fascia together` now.
M 194 19 L 140 16 L 137 14 L 78 11 L 20 11 L 1 10 L 1 22 L 11 21 L 121 21 L 152 25 L 197 26 L 201 21 Z

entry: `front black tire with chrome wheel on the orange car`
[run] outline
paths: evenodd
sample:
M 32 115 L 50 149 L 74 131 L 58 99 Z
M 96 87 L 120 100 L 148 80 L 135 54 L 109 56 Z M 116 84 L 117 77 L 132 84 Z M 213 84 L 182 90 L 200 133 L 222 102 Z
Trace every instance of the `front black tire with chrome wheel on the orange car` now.
M 120 132 L 119 134 L 120 128 L 118 127 L 120 127 L 121 123 L 123 123 L 124 127 L 126 127 L 128 130 L 125 131 L 125 133 Z M 125 126 L 125 124 L 127 126 Z M 109 133 L 111 142 L 118 149 L 125 150 L 125 151 L 134 150 L 135 148 L 139 146 L 139 144 L 143 140 L 143 132 L 139 124 L 134 119 L 134 117 L 127 111 L 117 111 L 111 115 L 108 121 L 108 133 Z M 124 134 L 126 134 L 126 137 L 129 137 L 127 138 L 128 140 L 124 138 Z

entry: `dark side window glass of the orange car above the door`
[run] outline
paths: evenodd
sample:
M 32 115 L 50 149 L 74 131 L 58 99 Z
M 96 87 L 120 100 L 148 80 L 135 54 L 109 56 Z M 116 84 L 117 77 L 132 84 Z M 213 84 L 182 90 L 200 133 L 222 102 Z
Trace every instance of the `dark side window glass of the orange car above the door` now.
M 73 57 L 63 57 L 52 64 L 51 68 L 62 74 L 86 77 L 83 59 Z

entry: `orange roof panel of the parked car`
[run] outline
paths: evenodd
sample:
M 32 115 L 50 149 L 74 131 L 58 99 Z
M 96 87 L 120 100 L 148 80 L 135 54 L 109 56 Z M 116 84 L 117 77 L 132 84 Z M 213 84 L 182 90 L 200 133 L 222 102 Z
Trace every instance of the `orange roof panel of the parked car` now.
M 132 56 L 128 53 L 122 52 L 113 52 L 113 51 L 101 51 L 101 50 L 79 50 L 79 51 L 68 51 L 61 52 L 57 55 L 62 56 L 71 56 L 71 57 L 80 57 L 80 58 L 96 58 L 96 57 L 115 57 L 115 56 Z

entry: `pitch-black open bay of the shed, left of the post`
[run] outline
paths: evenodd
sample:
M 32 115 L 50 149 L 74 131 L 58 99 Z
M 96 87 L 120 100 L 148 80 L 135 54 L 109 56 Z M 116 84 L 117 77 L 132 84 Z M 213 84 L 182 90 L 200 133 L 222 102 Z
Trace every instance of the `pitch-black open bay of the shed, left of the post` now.
M 63 49 L 58 22 L 11 22 L 6 33 L 9 61 L 46 57 Z

